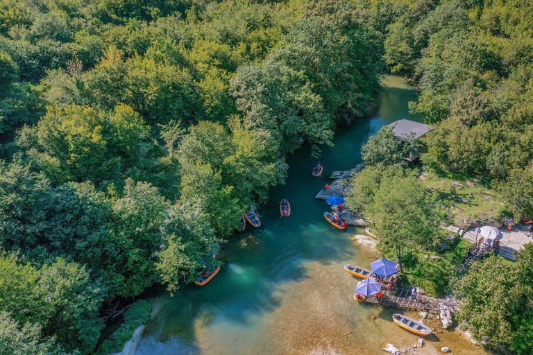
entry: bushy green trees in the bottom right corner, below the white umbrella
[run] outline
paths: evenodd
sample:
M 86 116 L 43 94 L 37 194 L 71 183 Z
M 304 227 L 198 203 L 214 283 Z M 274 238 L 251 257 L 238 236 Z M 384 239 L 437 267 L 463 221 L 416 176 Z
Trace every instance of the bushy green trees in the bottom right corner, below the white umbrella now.
M 460 320 L 468 320 L 475 339 L 528 354 L 532 344 L 532 246 L 518 254 L 518 263 L 500 257 L 476 261 L 464 277 L 455 280 L 462 303 Z

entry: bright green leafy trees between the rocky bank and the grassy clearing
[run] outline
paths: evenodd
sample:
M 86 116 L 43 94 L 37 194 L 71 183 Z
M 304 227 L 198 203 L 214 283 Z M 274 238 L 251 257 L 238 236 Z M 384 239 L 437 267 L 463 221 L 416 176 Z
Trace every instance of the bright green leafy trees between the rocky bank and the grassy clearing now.
M 416 266 L 418 250 L 436 250 L 443 239 L 440 226 L 449 224 L 452 214 L 448 203 L 426 191 L 416 176 L 400 166 L 371 166 L 351 183 L 346 204 L 373 221 L 380 249 L 394 254 L 400 266 Z

